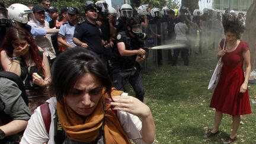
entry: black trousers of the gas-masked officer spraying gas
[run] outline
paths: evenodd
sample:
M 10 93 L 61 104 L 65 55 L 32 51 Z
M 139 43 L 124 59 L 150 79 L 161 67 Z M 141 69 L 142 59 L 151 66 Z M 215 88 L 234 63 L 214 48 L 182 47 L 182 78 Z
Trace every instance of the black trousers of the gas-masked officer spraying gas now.
M 118 90 L 126 92 L 126 82 L 129 81 L 135 91 L 137 99 L 143 102 L 145 91 L 142 85 L 142 75 L 136 69 L 114 69 L 113 82 L 114 87 Z

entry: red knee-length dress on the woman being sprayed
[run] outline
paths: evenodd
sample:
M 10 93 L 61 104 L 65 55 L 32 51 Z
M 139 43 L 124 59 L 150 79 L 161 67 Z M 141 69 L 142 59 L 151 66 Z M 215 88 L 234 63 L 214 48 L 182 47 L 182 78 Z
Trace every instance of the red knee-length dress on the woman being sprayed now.
M 220 42 L 220 47 L 223 43 Z M 216 111 L 232 116 L 251 113 L 248 90 L 244 94 L 239 92 L 245 79 L 242 53 L 248 49 L 248 44 L 241 41 L 233 52 L 222 57 L 222 72 L 210 103 Z

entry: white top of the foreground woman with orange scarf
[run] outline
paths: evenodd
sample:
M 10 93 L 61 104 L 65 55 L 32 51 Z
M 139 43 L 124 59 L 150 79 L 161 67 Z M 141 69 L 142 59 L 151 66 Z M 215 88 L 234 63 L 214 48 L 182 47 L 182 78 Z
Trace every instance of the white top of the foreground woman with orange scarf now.
M 46 101 L 49 103 L 50 112 L 52 114 L 52 122 L 50 124 L 50 132 L 49 135 L 46 132 L 46 127 L 43 122 L 43 117 L 41 116 L 40 107 L 34 111 L 34 114 L 31 116 L 28 121 L 27 128 L 23 134 L 21 139 L 21 144 L 36 144 L 36 143 L 55 143 L 54 135 L 55 135 L 55 113 L 57 108 L 57 100 L 56 97 L 52 97 Z M 142 129 L 142 122 L 139 117 L 124 112 L 117 111 L 117 117 L 120 120 L 121 126 L 124 131 L 127 133 L 130 139 L 135 143 L 145 143 L 142 140 L 142 136 L 140 135 L 140 130 Z

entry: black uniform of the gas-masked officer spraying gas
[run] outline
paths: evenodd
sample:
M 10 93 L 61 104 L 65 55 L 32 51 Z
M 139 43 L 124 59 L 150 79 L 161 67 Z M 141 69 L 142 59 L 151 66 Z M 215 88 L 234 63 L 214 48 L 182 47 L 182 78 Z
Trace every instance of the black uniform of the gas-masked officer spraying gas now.
M 129 31 L 122 31 L 117 34 L 116 42 L 123 42 L 126 50 L 138 50 L 143 46 L 143 40 L 131 37 Z M 140 65 L 136 62 L 136 56 L 121 56 L 118 48 L 114 49 L 113 59 L 113 81 L 114 87 L 126 91 L 124 88 L 127 81 L 130 82 L 136 93 L 136 98 L 143 102 L 144 88 L 142 85 L 142 75 L 140 74 Z

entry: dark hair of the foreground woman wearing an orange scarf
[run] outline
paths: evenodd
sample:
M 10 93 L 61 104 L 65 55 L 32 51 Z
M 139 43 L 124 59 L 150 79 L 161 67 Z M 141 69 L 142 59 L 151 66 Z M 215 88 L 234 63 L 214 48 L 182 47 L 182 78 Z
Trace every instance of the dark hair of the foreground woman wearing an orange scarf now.
M 61 53 L 53 63 L 50 95 L 56 95 L 57 101 L 63 103 L 63 98 L 85 73 L 94 75 L 110 95 L 112 84 L 103 63 L 95 53 L 78 46 Z

